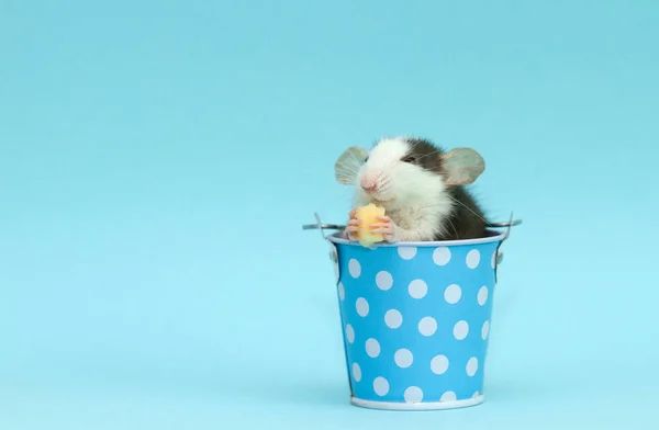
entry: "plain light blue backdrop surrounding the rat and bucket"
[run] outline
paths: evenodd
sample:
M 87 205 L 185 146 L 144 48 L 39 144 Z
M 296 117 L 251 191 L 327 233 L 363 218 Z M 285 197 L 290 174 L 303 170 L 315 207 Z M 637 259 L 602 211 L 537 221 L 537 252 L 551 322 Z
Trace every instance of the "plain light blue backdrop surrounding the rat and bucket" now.
M 658 39 L 652 0 L 0 1 L 0 428 L 651 428 Z M 347 403 L 300 226 L 396 134 L 525 223 L 477 408 Z

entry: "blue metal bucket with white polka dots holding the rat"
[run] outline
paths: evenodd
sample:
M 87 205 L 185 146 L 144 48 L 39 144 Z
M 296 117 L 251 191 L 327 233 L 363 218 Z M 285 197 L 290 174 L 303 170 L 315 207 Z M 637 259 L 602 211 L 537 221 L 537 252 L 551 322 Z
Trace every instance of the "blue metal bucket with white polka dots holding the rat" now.
M 316 220 L 321 231 L 342 227 Z M 514 224 L 505 225 L 479 239 L 372 248 L 323 235 L 353 405 L 428 410 L 483 401 L 499 249 Z

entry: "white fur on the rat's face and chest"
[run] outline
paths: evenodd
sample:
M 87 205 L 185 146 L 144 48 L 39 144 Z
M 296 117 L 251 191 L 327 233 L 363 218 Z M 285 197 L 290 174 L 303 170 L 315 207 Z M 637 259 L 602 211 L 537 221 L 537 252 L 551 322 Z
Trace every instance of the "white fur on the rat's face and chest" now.
M 393 222 L 390 241 L 433 240 L 445 233 L 454 210 L 454 201 L 439 174 L 402 161 L 411 148 L 404 137 L 379 140 L 356 178 L 353 207 L 369 203 L 384 207 Z M 373 195 L 359 186 L 365 176 L 378 183 Z

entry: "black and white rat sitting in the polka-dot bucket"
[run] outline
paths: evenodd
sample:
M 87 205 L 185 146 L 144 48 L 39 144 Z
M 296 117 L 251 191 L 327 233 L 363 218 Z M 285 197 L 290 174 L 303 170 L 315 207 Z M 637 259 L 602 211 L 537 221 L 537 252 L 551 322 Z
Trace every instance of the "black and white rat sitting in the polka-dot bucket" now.
M 446 152 L 422 138 L 382 138 L 368 152 L 348 148 L 335 165 L 337 181 L 355 185 L 344 237 L 359 239 L 356 208 L 369 203 L 384 207 L 369 228 L 388 242 L 484 237 L 488 222 L 465 188 L 484 167 L 473 149 Z

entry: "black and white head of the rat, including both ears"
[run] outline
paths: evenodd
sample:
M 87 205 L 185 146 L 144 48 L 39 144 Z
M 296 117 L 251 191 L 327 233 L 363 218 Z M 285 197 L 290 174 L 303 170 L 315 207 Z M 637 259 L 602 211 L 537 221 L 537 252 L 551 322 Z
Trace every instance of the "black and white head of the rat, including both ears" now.
M 348 148 L 335 165 L 336 179 L 356 185 L 364 200 L 387 204 L 436 194 L 473 182 L 484 162 L 473 149 L 444 152 L 427 140 L 383 138 L 370 151 Z

